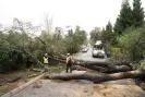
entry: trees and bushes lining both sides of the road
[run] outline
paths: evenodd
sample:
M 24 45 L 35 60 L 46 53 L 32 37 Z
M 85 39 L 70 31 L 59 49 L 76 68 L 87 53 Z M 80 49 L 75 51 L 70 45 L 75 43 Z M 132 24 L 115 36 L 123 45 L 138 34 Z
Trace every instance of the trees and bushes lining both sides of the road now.
M 75 53 L 87 45 L 87 33 L 80 26 L 68 29 L 64 34 L 61 27 L 50 28 L 51 20 L 45 20 L 45 31 L 29 22 L 13 20 L 13 25 L 0 29 L 0 73 L 25 69 L 27 61 L 37 65 L 44 53 L 65 56 Z M 101 39 L 105 50 L 111 51 L 112 61 L 136 61 L 145 57 L 145 21 L 141 0 L 123 0 L 116 24 L 107 23 L 106 27 L 95 27 L 90 33 L 89 43 L 93 45 Z M 35 35 L 41 32 L 40 35 Z M 52 64 L 57 64 L 56 62 Z

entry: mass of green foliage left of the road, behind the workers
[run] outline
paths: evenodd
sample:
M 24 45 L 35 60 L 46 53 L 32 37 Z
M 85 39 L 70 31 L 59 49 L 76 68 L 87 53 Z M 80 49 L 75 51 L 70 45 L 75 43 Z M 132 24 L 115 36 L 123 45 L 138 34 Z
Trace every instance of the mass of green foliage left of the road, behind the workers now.
M 80 51 L 86 41 L 86 32 L 77 26 L 64 37 L 62 32 L 49 34 L 45 31 L 40 36 L 31 37 L 25 29 L 0 33 L 0 73 L 8 73 L 25 66 L 27 60 L 35 63 L 34 58 L 41 61 L 44 53 L 65 54 Z M 34 58 L 33 58 L 33 57 Z

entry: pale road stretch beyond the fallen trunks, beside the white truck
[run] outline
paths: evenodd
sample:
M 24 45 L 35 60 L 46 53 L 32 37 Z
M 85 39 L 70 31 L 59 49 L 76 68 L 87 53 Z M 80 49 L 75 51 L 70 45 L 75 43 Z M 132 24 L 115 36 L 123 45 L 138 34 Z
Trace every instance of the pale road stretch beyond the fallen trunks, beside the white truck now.
M 105 62 L 107 61 L 107 58 L 93 58 L 92 57 L 92 48 L 87 50 L 87 52 L 80 52 L 77 56 L 74 57 L 74 59 L 77 60 L 85 60 L 85 61 L 99 61 L 99 62 Z

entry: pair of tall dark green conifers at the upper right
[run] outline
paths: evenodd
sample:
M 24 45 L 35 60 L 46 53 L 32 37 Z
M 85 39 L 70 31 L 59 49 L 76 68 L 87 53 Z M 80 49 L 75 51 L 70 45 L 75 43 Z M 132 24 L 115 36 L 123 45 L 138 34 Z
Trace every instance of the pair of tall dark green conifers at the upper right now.
M 141 27 L 144 24 L 144 16 L 141 0 L 133 0 L 133 9 L 131 9 L 129 0 L 123 0 L 113 31 L 119 36 L 131 26 L 135 28 Z

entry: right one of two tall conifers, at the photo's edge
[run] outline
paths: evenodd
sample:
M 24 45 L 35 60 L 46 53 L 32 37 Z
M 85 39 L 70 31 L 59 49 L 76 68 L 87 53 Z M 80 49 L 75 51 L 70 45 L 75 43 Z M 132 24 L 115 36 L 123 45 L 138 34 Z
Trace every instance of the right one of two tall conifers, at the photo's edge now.
M 144 9 L 141 0 L 133 0 L 133 26 L 140 27 L 144 23 Z

